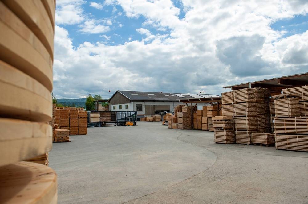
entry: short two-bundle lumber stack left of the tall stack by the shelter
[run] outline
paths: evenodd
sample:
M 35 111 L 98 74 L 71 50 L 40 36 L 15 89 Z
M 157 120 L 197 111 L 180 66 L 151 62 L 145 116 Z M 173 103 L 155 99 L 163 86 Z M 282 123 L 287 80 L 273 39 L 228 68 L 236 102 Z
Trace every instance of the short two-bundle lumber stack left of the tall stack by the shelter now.
M 232 116 L 216 116 L 212 118 L 214 140 L 216 143 L 235 143 Z

